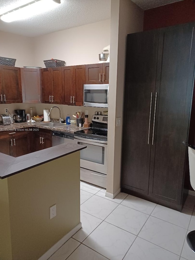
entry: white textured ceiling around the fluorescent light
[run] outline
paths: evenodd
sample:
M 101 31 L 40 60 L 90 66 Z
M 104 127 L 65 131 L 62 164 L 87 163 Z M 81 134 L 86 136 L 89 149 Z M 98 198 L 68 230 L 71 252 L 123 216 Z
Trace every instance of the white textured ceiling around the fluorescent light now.
M 29 2 L 32 0 L 0 0 L 0 14 Z M 110 19 L 110 12 L 111 0 L 61 0 L 55 10 L 25 20 L 11 23 L 0 20 L 0 31 L 36 37 Z

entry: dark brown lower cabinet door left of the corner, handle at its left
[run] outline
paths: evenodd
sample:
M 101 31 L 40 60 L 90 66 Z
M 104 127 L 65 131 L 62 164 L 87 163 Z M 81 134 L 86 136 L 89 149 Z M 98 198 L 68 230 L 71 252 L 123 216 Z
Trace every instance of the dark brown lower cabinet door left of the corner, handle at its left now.
M 30 133 L 23 132 L 12 137 L 13 156 L 18 157 L 30 153 Z

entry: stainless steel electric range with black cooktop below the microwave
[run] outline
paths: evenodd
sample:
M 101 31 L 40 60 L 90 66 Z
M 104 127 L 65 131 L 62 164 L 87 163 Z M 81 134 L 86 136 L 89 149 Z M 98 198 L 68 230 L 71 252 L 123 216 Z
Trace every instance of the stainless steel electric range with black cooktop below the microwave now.
M 80 151 L 80 179 L 106 188 L 108 116 L 93 115 L 92 127 L 74 132 Z

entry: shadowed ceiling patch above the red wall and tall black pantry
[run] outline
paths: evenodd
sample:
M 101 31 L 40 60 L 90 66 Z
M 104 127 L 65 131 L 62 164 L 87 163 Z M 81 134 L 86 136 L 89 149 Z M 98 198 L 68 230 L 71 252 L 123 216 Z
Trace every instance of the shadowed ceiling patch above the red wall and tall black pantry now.
M 143 10 L 155 8 L 161 5 L 168 5 L 179 1 L 183 0 L 132 0 L 132 2 L 134 2 Z

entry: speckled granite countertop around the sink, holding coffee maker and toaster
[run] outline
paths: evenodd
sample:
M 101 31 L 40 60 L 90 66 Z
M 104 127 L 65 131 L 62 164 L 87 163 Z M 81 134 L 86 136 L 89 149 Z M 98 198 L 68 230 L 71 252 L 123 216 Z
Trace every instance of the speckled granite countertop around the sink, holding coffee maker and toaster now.
M 15 131 L 16 129 L 21 129 L 21 128 L 27 128 L 27 127 L 38 127 L 38 128 L 43 128 L 43 129 L 48 129 L 48 130 L 53 130 L 53 131 L 60 131 L 60 132 L 65 132 L 65 133 L 72 133 L 82 130 L 82 129 L 87 129 L 85 127 L 78 127 L 78 126 L 73 126 L 73 125 L 65 125 L 61 127 L 48 127 L 48 126 L 42 126 L 40 123 L 44 122 L 36 122 L 36 123 L 13 123 L 11 125 L 7 126 L 2 126 L 0 125 L 0 132 L 1 131 Z

